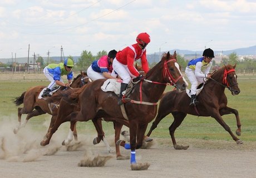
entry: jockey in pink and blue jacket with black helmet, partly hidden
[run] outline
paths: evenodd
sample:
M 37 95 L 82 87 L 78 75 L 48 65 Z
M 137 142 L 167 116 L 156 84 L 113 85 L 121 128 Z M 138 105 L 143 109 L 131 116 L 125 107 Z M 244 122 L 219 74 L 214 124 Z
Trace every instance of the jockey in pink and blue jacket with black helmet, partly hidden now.
M 117 75 L 112 67 L 116 53 L 116 50 L 111 50 L 108 55 L 102 56 L 99 60 L 93 61 L 91 66 L 87 69 L 87 76 L 93 81 L 100 78 L 117 79 Z

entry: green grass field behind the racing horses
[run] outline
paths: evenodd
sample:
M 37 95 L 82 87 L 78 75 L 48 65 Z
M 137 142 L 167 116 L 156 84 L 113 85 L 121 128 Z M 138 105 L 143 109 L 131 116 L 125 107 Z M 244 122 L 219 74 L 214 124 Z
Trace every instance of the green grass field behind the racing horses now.
M 14 97 L 20 96 L 22 92 L 26 91 L 29 87 L 37 85 L 48 85 L 48 81 L 43 75 L 26 75 L 22 74 L 18 76 L 11 74 L 3 76 L 0 74 L 0 121 L 1 120 L 15 120 L 18 122 L 17 107 L 12 102 Z M 76 76 L 76 75 L 75 75 Z M 24 80 L 25 78 L 25 80 Z M 240 94 L 232 96 L 230 91 L 225 90 L 228 97 L 228 106 L 236 108 L 239 111 L 240 121 L 242 123 L 242 136 L 240 139 L 243 141 L 256 141 L 256 76 L 238 76 Z M 168 86 L 167 90 L 172 90 L 173 87 Z M 145 113 L 146 114 L 146 113 Z M 23 115 L 22 119 L 26 115 Z M 38 129 L 46 130 L 43 123 L 49 121 L 50 115 L 42 115 L 31 118 L 28 121 L 28 125 Z M 226 115 L 223 117 L 225 122 L 235 132 L 236 120 L 233 114 Z M 151 137 L 158 138 L 169 138 L 169 126 L 173 122 L 171 115 L 165 117 L 158 125 L 158 127 L 152 132 Z M 61 127 L 67 129 L 69 123 L 64 123 Z M 78 134 L 79 132 L 95 132 L 95 128 L 91 121 L 78 123 Z M 149 124 L 149 127 L 151 123 Z M 149 128 L 148 128 L 149 129 Z M 106 134 L 114 134 L 114 129 L 111 122 L 104 122 L 104 131 Z M 188 115 L 181 126 L 175 132 L 176 139 L 204 139 L 204 140 L 232 140 L 232 137 L 223 127 L 219 125 L 211 117 L 196 117 Z

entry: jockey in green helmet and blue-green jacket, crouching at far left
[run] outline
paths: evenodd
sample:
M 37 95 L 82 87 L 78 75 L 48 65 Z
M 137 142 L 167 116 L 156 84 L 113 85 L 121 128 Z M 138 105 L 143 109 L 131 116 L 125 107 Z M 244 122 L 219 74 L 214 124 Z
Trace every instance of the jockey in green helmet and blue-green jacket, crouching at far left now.
M 42 97 L 51 96 L 50 92 L 53 87 L 56 85 L 70 86 L 73 78 L 72 67 L 74 66 L 73 60 L 71 58 L 67 58 L 64 63 L 51 63 L 43 69 L 43 73 L 51 81 L 46 90 L 43 92 Z M 64 83 L 61 76 L 67 75 L 68 83 Z

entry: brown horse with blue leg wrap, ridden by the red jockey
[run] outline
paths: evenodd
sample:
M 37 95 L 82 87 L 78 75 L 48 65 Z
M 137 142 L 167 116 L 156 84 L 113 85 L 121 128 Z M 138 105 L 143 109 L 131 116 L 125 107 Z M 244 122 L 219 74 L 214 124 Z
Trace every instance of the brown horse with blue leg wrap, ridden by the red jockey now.
M 117 105 L 117 95 L 114 92 L 101 90 L 101 86 L 105 81 L 106 79 L 93 81 L 81 88 L 80 92 L 72 93 L 68 97 L 63 96 L 68 102 L 79 101 L 80 111 L 74 111 L 65 118 L 58 117 L 52 127 L 50 136 L 44 141 L 50 141 L 52 134 L 61 123 L 66 121 L 70 121 L 71 126 L 65 142 L 72 139 L 73 128 L 77 121 L 92 120 L 97 131 L 102 130 L 102 127 L 97 124 L 97 120 L 102 117 L 125 124 L 127 120 L 125 120 L 121 112 L 121 107 Z M 141 102 L 124 103 L 129 120 L 130 146 L 127 149 L 131 150 L 130 164 L 132 170 L 135 170 L 136 168 L 134 167 L 138 166 L 135 150 L 142 146 L 146 127 L 156 116 L 157 101 L 164 92 L 166 85 L 175 86 L 177 91 L 186 89 L 185 78 L 181 75 L 176 61 L 176 51 L 174 55 L 170 55 L 169 52 L 165 53 L 161 61 L 146 74 L 145 79 L 134 85 L 130 99 L 131 101 Z M 147 169 L 149 165 L 143 165 L 142 167 L 144 167 L 142 169 Z

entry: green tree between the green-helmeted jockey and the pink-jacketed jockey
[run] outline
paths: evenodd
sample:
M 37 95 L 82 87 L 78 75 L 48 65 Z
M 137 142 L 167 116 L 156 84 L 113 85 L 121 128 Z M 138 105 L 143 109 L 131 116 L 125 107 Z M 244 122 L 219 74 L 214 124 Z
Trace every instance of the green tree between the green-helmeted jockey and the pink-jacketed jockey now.
M 78 58 L 77 67 L 80 67 L 81 70 L 87 70 L 94 60 L 95 57 L 92 56 L 92 53 L 85 50 L 81 53 L 80 58 Z

